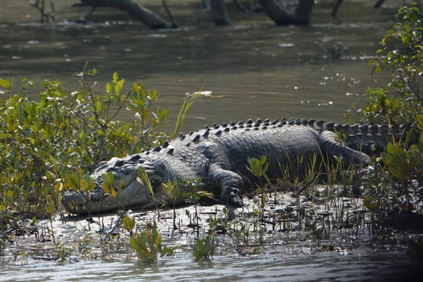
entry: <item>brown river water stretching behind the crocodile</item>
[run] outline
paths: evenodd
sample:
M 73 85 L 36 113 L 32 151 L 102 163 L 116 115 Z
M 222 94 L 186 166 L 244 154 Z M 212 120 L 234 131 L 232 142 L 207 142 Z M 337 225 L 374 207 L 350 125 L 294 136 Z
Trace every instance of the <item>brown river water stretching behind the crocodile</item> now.
M 25 1 L 4 2 L 6 9 L 28 6 Z M 15 77 L 17 86 L 27 77 L 61 79 L 67 90 L 74 90 L 77 79 L 70 74 L 89 60 L 99 71 L 98 90 L 117 70 L 128 88 L 142 80 L 159 90 L 160 107 L 174 116 L 186 92 L 202 89 L 226 95 L 196 102 L 188 128 L 258 117 L 344 121 L 342 114 L 351 103 L 363 105 L 361 94 L 367 86 L 384 80 L 370 76 L 367 60 L 392 25 L 394 6 L 375 11 L 368 3 L 351 1 L 339 13 L 342 22 L 336 22 L 328 3 L 317 6 L 313 25 L 304 27 L 276 27 L 264 15 L 237 13 L 233 25 L 214 27 L 197 2 L 190 4 L 190 15 L 186 6 L 174 4 L 181 28 L 159 31 L 128 20 L 44 26 L 31 9 L 32 20 L 10 22 L 13 15 L 6 13 L 19 18 L 20 10 L 0 11 L 0 19 L 6 19 L 0 25 L 0 77 Z M 58 5 L 69 18 L 84 12 Z M 335 43 L 349 49 L 339 60 L 327 51 Z

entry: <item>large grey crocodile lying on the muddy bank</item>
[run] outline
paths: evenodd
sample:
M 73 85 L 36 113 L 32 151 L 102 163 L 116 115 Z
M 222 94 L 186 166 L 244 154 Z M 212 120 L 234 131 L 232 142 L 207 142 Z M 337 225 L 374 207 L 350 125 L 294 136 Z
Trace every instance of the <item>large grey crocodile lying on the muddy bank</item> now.
M 181 183 L 183 192 L 206 190 L 220 196 L 231 207 L 243 205 L 240 193 L 257 181 L 247 168 L 247 159 L 267 156 L 271 179 L 283 177 L 282 170 L 297 164 L 303 170 L 313 160 L 340 161 L 351 166 L 368 165 L 370 155 L 382 152 L 388 140 L 400 140 L 409 125 L 358 125 L 325 123 L 306 119 L 275 119 L 215 123 L 182 134 L 162 145 L 124 158 L 102 162 L 90 175 L 96 187 L 89 194 L 69 189 L 62 203 L 69 213 L 86 214 L 122 207 L 148 206 L 152 194 L 139 177 L 147 173 L 155 199 L 170 202 L 162 191 L 168 180 Z M 417 136 L 417 135 L 416 135 Z M 296 169 L 299 166 L 293 166 Z M 286 171 L 286 170 L 285 170 Z M 105 173 L 112 173 L 117 198 L 105 194 L 101 185 Z M 182 203 L 183 197 L 175 199 Z

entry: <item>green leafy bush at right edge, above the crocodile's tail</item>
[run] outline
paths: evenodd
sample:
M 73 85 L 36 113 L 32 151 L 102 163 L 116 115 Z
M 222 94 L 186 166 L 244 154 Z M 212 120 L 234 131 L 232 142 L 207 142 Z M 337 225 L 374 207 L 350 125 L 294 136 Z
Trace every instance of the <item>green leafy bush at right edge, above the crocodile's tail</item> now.
M 377 56 L 370 60 L 373 72 L 384 70 L 391 74 L 389 82 L 383 87 L 368 88 L 365 109 L 357 112 L 353 105 L 346 114 L 349 119 L 367 123 L 408 123 L 416 120 L 423 105 L 421 5 L 421 1 L 415 1 L 399 9 L 401 21 L 387 32 Z

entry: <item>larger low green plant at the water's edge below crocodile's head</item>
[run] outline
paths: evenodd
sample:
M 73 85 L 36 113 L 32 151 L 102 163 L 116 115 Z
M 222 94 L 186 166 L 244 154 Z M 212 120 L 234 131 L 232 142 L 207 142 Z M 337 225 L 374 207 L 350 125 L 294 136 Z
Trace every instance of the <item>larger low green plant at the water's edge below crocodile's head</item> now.
M 157 231 L 157 224 L 153 222 L 145 224 L 145 229 L 137 227 L 138 232 L 134 232 L 135 220 L 131 217 L 124 217 L 122 220 L 124 229 L 131 234 L 129 245 L 136 251 L 136 255 L 141 262 L 152 264 L 157 261 L 158 256 L 173 255 L 175 248 L 162 246 L 162 239 Z

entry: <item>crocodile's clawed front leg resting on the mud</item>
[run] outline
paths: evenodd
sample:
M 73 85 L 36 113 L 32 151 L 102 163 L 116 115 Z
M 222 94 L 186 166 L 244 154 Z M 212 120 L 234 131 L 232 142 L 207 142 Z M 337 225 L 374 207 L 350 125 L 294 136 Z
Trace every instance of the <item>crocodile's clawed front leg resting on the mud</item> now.
M 221 199 L 228 206 L 240 208 L 244 206 L 244 202 L 240 198 L 240 190 L 244 186 L 242 177 L 230 170 L 225 170 L 217 164 L 211 165 L 207 175 L 211 184 L 219 186 L 221 189 Z

